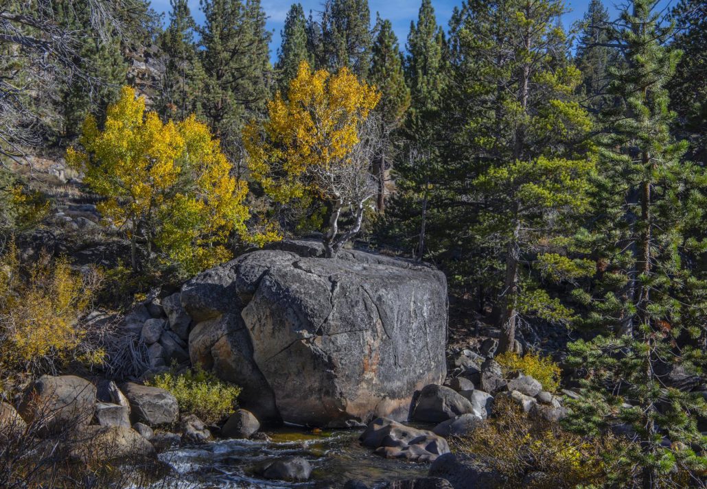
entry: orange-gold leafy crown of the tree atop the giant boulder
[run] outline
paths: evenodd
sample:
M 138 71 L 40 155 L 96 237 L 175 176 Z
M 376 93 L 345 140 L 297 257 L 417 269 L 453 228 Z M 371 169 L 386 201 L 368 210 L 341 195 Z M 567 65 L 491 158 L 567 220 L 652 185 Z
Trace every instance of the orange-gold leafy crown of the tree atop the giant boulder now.
M 312 71 L 303 61 L 286 98 L 275 95 L 262 128 L 245 127 L 247 165 L 252 177 L 275 201 L 286 203 L 308 192 L 337 199 L 328 175 L 360 142 L 361 124 L 380 100 L 380 93 L 342 68 L 331 74 Z

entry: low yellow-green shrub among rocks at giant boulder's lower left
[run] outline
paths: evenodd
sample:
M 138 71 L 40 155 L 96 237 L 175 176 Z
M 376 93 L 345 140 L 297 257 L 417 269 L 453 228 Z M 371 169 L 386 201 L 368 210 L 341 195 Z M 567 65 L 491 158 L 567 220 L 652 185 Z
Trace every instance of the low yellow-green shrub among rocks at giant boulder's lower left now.
M 180 412 L 195 414 L 206 424 L 219 423 L 235 411 L 240 387 L 217 379 L 201 367 L 177 374 L 156 375 L 148 385 L 170 391 L 179 403 Z

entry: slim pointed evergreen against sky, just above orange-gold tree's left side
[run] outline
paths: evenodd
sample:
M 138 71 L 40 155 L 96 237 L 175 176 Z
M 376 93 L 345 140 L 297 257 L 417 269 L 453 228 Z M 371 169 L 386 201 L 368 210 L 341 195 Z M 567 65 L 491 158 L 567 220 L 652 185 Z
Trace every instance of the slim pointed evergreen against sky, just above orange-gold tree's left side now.
M 285 28 L 281 32 L 282 44 L 278 49 L 278 61 L 275 69 L 281 90 L 285 90 L 290 81 L 297 76 L 302 61 L 310 65 L 314 60 L 307 49 L 307 19 L 301 4 L 293 4 L 285 18 Z

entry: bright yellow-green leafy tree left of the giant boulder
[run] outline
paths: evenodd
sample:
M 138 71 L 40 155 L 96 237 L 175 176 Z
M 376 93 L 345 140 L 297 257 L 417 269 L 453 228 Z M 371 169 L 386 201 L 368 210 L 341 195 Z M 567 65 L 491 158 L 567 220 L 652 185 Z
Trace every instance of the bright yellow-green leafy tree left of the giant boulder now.
M 218 140 L 193 116 L 164 124 L 146 112 L 144 98 L 124 87 L 108 107 L 104 129 L 88 117 L 79 142 L 83 149 L 69 148 L 66 160 L 106 198 L 103 216 L 127 228 L 134 268 L 139 236 L 148 255 L 156 245 L 165 261 L 187 273 L 229 259 L 232 232 L 264 239 L 247 235 L 247 184 L 230 175 Z

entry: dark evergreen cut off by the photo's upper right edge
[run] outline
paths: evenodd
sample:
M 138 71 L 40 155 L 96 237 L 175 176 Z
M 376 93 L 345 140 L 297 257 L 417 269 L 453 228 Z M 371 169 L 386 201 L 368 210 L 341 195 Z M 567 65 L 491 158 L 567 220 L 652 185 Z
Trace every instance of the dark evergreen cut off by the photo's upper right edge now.
M 690 141 L 691 159 L 707 165 L 707 4 L 682 0 L 673 18 L 679 30 L 672 46 L 684 56 L 669 85 L 671 107 L 679 136 Z

